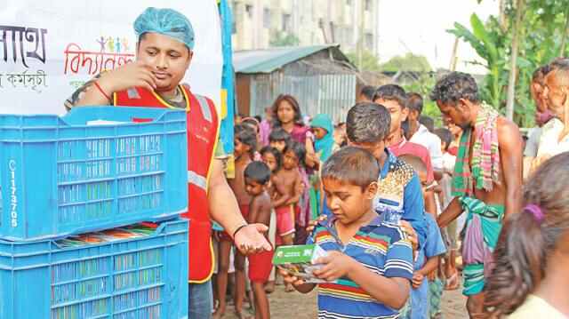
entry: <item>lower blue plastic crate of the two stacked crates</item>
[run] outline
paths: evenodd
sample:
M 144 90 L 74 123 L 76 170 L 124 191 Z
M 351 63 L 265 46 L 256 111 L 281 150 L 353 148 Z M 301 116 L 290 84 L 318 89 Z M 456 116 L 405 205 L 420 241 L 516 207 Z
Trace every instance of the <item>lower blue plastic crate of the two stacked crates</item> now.
M 0 241 L 0 318 L 188 316 L 188 220 L 153 235 L 60 248 Z

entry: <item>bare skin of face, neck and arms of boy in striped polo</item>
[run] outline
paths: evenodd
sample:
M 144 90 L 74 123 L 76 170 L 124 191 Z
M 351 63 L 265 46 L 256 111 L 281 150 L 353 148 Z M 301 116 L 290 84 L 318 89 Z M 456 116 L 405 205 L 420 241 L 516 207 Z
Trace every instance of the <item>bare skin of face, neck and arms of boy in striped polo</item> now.
M 356 235 L 357 230 L 369 224 L 377 214 L 372 209 L 372 201 L 377 192 L 377 183 L 373 182 L 365 189 L 349 185 L 335 179 L 324 179 L 326 203 L 337 218 L 334 227 L 342 243 Z M 382 304 L 401 308 L 409 295 L 410 283 L 405 278 L 387 278 L 376 275 L 364 265 L 340 251 L 329 251 L 329 254 L 315 261 L 325 266 L 314 272 L 321 279 L 333 281 L 343 276 L 349 277 L 360 288 Z M 302 293 L 312 291 L 314 283 L 304 283 L 299 278 L 280 271 L 286 283 L 293 283 L 294 288 Z M 386 293 L 389 291 L 389 293 Z

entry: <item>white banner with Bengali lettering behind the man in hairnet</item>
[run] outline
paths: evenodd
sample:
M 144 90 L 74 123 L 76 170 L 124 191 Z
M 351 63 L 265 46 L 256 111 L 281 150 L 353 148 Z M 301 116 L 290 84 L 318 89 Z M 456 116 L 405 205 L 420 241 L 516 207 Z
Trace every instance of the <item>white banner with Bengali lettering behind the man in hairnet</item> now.
M 185 82 L 220 105 L 220 22 L 214 0 L 0 0 L 0 113 L 63 114 L 102 69 L 135 60 L 132 23 L 148 6 L 184 13 L 196 32 Z

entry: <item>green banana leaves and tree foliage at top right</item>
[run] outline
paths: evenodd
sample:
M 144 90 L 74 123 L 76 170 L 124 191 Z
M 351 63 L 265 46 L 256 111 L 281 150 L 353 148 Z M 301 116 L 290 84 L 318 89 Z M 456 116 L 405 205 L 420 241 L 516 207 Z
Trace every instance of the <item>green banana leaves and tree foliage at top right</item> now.
M 565 18 L 569 1 L 525 0 L 522 28 L 518 45 L 516 98 L 514 101 L 514 120 L 521 126 L 533 125 L 535 106 L 529 87 L 533 71 L 549 63 L 560 52 L 565 33 Z M 491 16 L 483 23 L 476 14 L 470 18 L 470 28 L 455 23 L 448 30 L 464 42 L 470 44 L 482 58 L 488 74 L 482 84 L 482 100 L 505 111 L 510 68 L 512 28 L 516 18 L 513 1 L 507 1 L 505 8 L 506 25 L 501 26 L 497 17 Z M 474 62 L 473 62 L 474 63 Z

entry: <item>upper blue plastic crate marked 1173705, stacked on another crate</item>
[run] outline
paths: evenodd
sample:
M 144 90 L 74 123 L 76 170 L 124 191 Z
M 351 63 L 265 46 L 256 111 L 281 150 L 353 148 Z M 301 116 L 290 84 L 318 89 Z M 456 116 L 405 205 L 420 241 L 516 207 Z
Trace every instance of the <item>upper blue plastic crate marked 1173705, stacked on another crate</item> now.
M 0 238 L 170 219 L 188 207 L 187 149 L 184 111 L 83 107 L 62 117 L 0 116 Z

